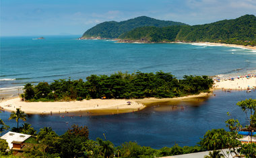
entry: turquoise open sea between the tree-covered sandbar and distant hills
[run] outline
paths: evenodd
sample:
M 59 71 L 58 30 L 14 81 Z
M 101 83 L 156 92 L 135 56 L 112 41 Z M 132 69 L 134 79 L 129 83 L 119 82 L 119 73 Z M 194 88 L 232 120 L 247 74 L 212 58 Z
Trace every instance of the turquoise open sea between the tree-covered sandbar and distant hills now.
M 200 44 L 125 44 L 76 40 L 79 36 L 1 37 L 0 92 L 25 83 L 86 79 L 117 71 L 183 75 L 246 73 L 256 69 L 255 50 Z

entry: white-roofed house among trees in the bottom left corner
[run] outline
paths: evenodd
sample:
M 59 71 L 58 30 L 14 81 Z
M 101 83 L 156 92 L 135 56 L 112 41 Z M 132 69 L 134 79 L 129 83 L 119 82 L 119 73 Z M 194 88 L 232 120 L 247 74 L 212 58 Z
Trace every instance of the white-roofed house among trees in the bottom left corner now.
M 31 135 L 28 134 L 9 131 L 1 136 L 1 139 L 5 139 L 7 141 L 9 149 L 20 151 L 24 147 L 24 141 L 30 138 L 30 136 Z

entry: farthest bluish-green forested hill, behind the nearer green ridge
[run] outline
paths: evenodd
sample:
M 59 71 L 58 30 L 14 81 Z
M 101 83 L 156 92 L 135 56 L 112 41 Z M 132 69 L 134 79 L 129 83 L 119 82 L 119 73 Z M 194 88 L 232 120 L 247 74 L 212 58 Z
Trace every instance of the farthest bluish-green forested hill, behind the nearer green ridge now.
M 139 28 L 143 26 L 156 26 L 156 27 L 166 27 L 166 26 L 181 26 L 186 25 L 181 22 L 164 21 L 159 19 L 154 19 L 151 17 L 141 16 L 135 17 L 134 19 L 128 19 L 123 22 L 103 22 L 93 28 L 87 30 L 82 38 L 118 38 L 124 32 L 129 32 L 134 28 Z

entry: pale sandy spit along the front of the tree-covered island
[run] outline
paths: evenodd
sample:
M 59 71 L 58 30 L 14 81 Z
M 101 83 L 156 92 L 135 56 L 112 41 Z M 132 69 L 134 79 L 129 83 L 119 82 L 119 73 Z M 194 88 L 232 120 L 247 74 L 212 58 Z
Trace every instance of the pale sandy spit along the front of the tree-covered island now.
M 198 97 L 207 97 L 208 93 L 200 93 L 199 95 L 189 95 L 186 97 L 176 98 L 146 98 L 141 100 L 83 100 L 73 102 L 22 102 L 20 97 L 15 97 L 10 100 L 6 100 L 0 103 L 1 108 L 6 111 L 15 111 L 16 108 L 20 108 L 26 114 L 59 114 L 67 112 L 80 112 L 80 111 L 97 111 L 97 112 L 135 112 L 146 108 L 146 104 L 170 102 L 178 100 L 191 100 Z M 131 102 L 128 105 L 127 102 Z

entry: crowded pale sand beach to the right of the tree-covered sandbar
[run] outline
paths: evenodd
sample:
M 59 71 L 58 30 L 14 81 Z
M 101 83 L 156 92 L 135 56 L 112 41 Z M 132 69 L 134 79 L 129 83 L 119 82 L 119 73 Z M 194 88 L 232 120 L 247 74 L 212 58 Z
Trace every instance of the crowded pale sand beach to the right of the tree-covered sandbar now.
M 251 77 L 247 79 L 246 77 L 237 79 L 234 81 L 220 79 L 220 82 L 214 81 L 214 89 L 230 89 L 230 90 L 247 90 L 247 88 L 256 88 L 256 77 Z

